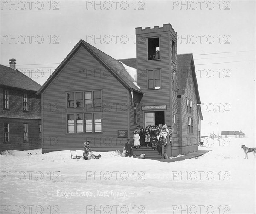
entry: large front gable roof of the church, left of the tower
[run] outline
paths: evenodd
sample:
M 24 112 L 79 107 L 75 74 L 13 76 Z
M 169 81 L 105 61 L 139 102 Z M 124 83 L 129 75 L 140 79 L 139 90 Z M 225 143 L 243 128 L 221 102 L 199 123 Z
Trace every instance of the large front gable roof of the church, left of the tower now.
M 37 94 L 41 94 L 45 88 L 53 81 L 53 79 L 58 75 L 59 72 L 64 68 L 64 66 L 69 62 L 70 58 L 78 51 L 78 49 L 83 46 L 90 52 L 93 57 L 95 57 L 99 63 L 101 63 L 111 74 L 119 80 L 125 87 L 128 89 L 137 91 L 138 93 L 143 94 L 143 92 L 134 84 L 134 79 L 126 71 L 122 63 L 112 58 L 111 56 L 105 54 L 96 47 L 90 45 L 84 40 L 79 40 L 76 46 L 71 50 L 67 57 L 61 62 L 61 64 L 55 69 L 52 75 L 47 79 L 44 85 L 38 90 Z

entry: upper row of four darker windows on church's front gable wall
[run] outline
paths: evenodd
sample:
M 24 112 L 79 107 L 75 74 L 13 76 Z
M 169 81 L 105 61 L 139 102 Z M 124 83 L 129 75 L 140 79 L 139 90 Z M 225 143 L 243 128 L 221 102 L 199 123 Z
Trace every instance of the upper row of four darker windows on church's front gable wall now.
M 67 108 L 101 107 L 101 106 L 102 106 L 101 90 L 67 93 Z

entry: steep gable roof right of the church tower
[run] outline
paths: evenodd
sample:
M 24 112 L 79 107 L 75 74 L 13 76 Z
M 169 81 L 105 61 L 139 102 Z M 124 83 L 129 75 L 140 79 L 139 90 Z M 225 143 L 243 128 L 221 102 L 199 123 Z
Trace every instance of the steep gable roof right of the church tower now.
M 195 96 L 197 99 L 197 104 L 201 104 L 199 91 L 198 91 L 198 84 L 196 80 L 195 74 L 195 64 L 193 59 L 193 54 L 178 54 L 178 95 L 184 95 L 186 84 L 188 80 L 189 70 L 191 68 L 192 78 L 195 87 Z

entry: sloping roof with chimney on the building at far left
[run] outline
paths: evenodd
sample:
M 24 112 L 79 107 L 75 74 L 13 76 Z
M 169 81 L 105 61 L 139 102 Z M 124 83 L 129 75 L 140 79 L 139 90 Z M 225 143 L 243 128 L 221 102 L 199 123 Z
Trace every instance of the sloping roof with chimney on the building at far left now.
M 0 65 L 0 86 L 13 87 L 17 89 L 38 91 L 40 84 L 18 71 L 8 66 Z

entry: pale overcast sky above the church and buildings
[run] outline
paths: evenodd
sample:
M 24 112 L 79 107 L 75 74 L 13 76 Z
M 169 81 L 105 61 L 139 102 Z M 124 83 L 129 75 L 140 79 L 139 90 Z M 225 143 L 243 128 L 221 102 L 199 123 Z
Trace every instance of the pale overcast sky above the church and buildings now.
M 43 85 L 80 39 L 136 58 L 135 28 L 170 23 L 178 54 L 193 53 L 202 135 L 256 131 L 256 1 L 0 0 L 0 64 Z M 218 123 L 218 127 L 217 127 Z

